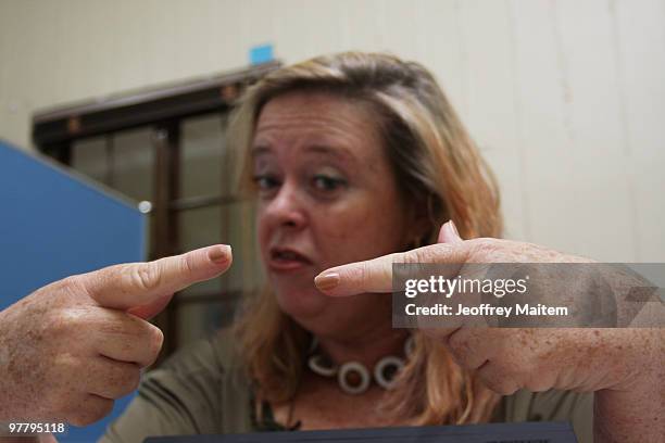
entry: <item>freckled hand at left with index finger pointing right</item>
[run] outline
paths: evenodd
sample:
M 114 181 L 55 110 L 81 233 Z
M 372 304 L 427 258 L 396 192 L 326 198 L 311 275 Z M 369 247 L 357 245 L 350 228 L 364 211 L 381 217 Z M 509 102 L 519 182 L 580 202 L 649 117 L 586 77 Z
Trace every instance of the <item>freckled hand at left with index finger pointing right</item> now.
M 0 421 L 97 421 L 134 391 L 174 292 L 224 273 L 227 245 L 55 281 L 0 313 Z

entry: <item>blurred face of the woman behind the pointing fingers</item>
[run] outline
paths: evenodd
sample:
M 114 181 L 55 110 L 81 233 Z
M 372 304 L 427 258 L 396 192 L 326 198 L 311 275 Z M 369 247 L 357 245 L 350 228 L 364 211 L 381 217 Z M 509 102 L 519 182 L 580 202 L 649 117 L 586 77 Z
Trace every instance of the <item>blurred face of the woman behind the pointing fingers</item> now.
M 325 92 L 278 96 L 259 116 L 252 157 L 261 254 L 280 308 L 319 334 L 390 321 L 389 295 L 332 299 L 314 286 L 326 268 L 416 237 L 368 107 Z

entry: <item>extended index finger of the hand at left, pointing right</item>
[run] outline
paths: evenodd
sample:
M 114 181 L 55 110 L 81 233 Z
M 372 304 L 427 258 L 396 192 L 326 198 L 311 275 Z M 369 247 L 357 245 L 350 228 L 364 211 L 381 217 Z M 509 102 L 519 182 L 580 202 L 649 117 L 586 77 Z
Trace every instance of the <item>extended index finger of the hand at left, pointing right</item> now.
M 230 264 L 230 246 L 216 244 L 154 262 L 114 265 L 80 278 L 101 306 L 147 318 L 163 309 L 174 292 L 216 277 Z

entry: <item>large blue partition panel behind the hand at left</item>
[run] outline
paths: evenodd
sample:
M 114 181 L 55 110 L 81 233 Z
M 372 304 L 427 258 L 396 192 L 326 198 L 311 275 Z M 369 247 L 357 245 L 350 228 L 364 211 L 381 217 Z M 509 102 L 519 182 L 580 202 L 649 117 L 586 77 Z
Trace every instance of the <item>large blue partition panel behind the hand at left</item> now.
M 51 281 L 145 260 L 146 219 L 135 205 L 0 140 L 0 309 Z M 99 438 L 113 414 L 70 428 L 61 442 Z

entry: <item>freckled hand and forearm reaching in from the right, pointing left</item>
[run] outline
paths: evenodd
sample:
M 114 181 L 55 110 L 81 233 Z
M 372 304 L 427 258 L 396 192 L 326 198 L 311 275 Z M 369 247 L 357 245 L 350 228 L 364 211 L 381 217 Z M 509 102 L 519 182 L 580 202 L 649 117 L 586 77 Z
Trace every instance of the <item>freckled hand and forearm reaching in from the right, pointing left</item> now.
M 446 227 L 446 225 L 444 225 Z M 340 283 L 326 293 L 352 295 L 366 288 L 391 291 L 393 263 L 591 263 L 530 243 L 498 239 L 463 241 L 444 227 L 438 243 L 364 263 L 327 269 Z M 455 235 L 456 236 L 456 235 Z M 453 236 L 454 237 L 454 236 Z M 448 239 L 448 240 L 446 240 Z M 362 279 L 355 279 L 362 269 Z M 643 282 L 629 273 L 601 267 L 611 294 Z M 548 281 L 551 294 L 579 294 L 604 290 L 586 281 L 581 273 Z M 603 294 L 601 294 L 603 295 Z M 605 294 L 606 295 L 606 294 Z M 614 296 L 614 295 L 613 295 Z M 635 306 L 619 306 L 619 322 L 633 325 Z M 661 315 L 663 313 L 655 313 Z M 424 329 L 442 340 L 457 363 L 492 390 L 512 394 L 525 388 L 594 392 L 594 434 L 598 442 L 665 441 L 665 329 L 664 328 L 440 328 Z

